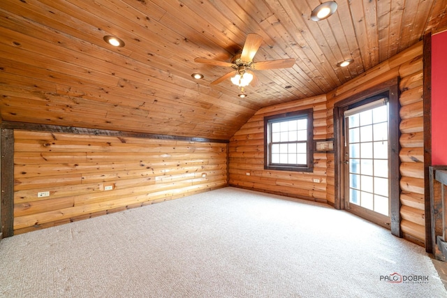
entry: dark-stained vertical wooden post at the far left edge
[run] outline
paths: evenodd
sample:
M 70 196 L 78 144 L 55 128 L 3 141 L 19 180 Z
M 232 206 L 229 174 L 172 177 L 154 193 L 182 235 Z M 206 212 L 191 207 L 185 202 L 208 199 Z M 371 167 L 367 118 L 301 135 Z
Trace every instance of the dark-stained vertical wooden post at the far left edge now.
M 1 200 L 0 223 L 1 237 L 11 237 L 14 234 L 14 131 L 1 128 L 0 136 L 0 167 L 1 167 Z

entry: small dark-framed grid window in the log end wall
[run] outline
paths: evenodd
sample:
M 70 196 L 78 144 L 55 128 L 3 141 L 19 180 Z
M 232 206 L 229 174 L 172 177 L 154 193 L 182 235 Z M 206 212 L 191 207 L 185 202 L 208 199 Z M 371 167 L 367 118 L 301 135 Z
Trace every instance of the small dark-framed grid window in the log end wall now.
M 264 117 L 264 169 L 313 171 L 312 109 Z

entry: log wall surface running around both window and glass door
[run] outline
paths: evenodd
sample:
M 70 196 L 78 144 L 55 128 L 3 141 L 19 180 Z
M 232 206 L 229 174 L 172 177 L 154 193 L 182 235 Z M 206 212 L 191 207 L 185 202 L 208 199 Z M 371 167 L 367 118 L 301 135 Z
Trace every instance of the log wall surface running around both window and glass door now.
M 332 138 L 335 103 L 400 77 L 401 228 L 404 238 L 425 244 L 422 54 L 420 42 L 325 94 L 325 98 L 296 100 L 258 111 L 230 139 L 230 185 L 335 204 L 334 154 L 314 154 L 313 173 L 263 170 L 263 117 L 313 107 L 314 139 Z M 321 183 L 314 184 L 313 178 L 321 179 Z

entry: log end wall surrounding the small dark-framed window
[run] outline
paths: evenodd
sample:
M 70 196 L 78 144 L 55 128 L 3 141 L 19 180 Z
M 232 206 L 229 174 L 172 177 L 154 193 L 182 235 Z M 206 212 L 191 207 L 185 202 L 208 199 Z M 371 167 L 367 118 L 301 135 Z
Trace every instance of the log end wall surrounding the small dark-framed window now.
M 325 140 L 325 96 L 265 107 L 256 112 L 230 139 L 230 185 L 326 202 L 328 154 L 314 153 L 314 172 L 264 170 L 264 117 L 309 108 L 314 110 L 314 140 Z M 314 179 L 320 182 L 315 183 Z

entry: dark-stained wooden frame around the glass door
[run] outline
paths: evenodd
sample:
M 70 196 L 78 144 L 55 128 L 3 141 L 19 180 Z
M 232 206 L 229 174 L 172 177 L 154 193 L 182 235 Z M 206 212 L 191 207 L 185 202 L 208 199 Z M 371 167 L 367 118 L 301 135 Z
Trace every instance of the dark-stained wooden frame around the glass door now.
M 354 105 L 367 98 L 386 96 L 388 98 L 389 113 L 389 198 L 390 198 L 390 230 L 397 237 L 402 237 L 400 228 L 400 103 L 399 103 L 399 78 L 395 77 L 375 87 L 359 92 L 340 100 L 334 105 L 334 157 L 335 157 L 335 208 L 345 209 L 343 196 L 344 172 L 343 172 L 343 147 L 344 147 L 344 114 L 343 110 L 349 105 Z

